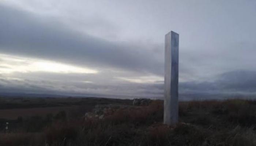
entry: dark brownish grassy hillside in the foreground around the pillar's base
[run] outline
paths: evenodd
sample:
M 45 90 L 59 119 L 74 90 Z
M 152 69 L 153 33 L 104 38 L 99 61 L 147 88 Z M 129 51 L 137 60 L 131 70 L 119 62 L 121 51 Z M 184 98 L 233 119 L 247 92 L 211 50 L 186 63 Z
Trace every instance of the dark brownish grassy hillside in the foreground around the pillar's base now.
M 112 103 L 106 102 L 104 104 Z M 97 100 L 95 100 L 97 101 Z M 91 101 L 93 103 L 93 101 Z M 0 134 L 2 146 L 254 146 L 256 102 L 249 100 L 180 102 L 180 122 L 162 124 L 163 103 L 132 106 L 118 100 L 86 116 L 60 111 L 16 120 Z M 96 105 L 94 103 L 93 105 Z M 112 103 L 113 104 L 113 103 Z M 77 109 L 78 110 L 78 109 Z M 89 112 L 91 111 L 91 112 Z M 73 111 L 75 113 L 75 111 Z

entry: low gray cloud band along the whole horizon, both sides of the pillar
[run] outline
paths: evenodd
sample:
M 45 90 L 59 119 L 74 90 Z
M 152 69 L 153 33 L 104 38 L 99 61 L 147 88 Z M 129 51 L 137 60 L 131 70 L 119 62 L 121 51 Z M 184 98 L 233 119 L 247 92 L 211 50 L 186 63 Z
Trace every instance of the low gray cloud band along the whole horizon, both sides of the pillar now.
M 49 76 L 49 75 L 48 75 Z M 60 76 L 60 75 L 59 75 Z M 108 97 L 158 97 L 163 96 L 163 82 L 132 83 L 118 82 L 115 84 L 98 84 L 94 82 L 80 82 L 83 76 L 75 74 L 62 75 L 65 80 L 5 80 L 0 79 L 1 92 L 22 93 L 48 93 L 72 96 L 108 96 Z M 74 80 L 74 78 L 76 78 Z M 88 77 L 87 79 L 92 79 Z M 234 95 L 256 96 L 256 72 L 248 70 L 236 70 L 220 74 L 214 81 L 181 82 L 179 92 L 181 100 L 212 99 L 221 97 L 234 97 Z M 104 82 L 104 81 L 103 81 Z

